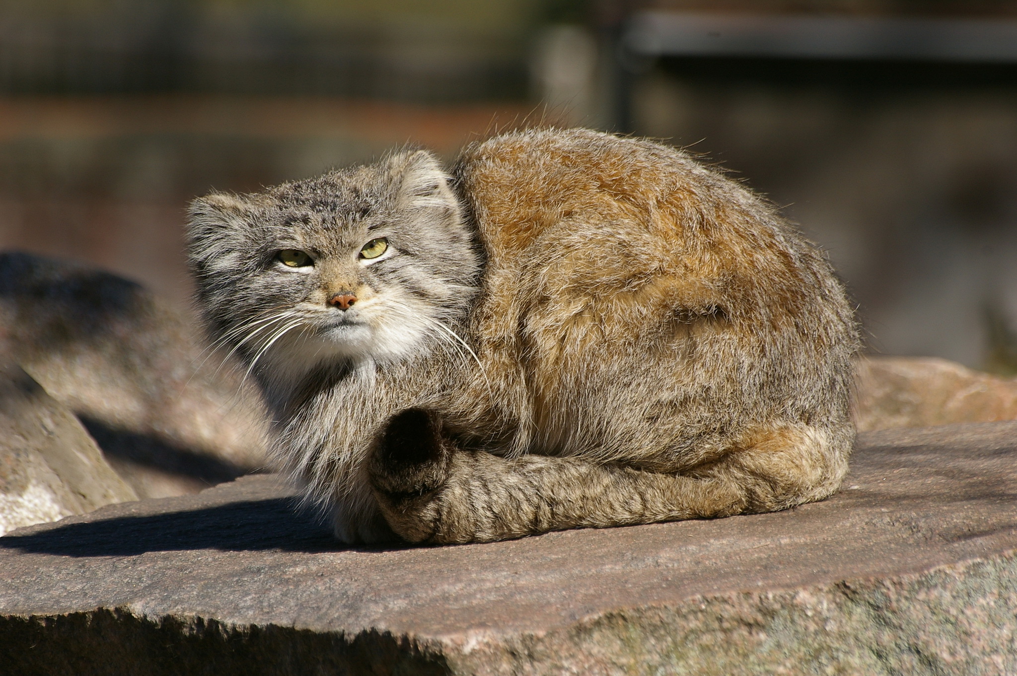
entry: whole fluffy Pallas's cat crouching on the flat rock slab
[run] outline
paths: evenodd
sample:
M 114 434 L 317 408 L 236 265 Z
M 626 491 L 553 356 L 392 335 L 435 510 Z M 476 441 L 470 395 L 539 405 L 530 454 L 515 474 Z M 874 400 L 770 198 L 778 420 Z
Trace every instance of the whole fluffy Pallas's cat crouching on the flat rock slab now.
M 857 330 L 825 257 L 679 150 L 528 130 L 193 202 L 212 333 L 348 543 L 833 493 Z

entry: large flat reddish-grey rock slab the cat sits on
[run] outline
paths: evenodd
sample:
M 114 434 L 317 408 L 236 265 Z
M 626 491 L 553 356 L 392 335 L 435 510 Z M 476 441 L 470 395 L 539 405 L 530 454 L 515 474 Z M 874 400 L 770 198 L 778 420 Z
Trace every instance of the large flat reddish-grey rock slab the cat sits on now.
M 274 477 L 0 539 L 11 674 L 1017 673 L 1017 423 L 861 435 L 774 514 L 334 542 Z

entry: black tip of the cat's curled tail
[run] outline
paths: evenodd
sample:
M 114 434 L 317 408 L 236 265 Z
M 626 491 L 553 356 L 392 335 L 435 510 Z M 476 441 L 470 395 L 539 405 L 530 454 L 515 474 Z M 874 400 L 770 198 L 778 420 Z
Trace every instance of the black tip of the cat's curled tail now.
M 407 409 L 388 420 L 375 442 L 371 485 L 396 503 L 427 495 L 444 485 L 448 455 L 438 417 Z

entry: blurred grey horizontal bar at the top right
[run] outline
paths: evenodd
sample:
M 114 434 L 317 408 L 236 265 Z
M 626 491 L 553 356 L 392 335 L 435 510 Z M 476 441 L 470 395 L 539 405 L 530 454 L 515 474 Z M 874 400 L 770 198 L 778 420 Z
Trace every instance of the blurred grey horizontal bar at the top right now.
M 643 56 L 1017 62 L 1017 21 L 642 11 L 622 35 Z

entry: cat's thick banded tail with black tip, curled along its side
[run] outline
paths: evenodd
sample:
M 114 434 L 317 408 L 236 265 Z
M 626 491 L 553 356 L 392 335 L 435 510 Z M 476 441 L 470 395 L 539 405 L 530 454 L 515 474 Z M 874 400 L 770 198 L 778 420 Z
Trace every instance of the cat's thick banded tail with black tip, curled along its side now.
M 775 428 L 745 441 L 682 475 L 658 474 L 457 449 L 432 415 L 409 410 L 378 439 L 368 472 L 385 520 L 404 540 L 465 543 L 783 509 L 830 495 L 846 471 L 846 449 L 837 452 L 811 428 Z

